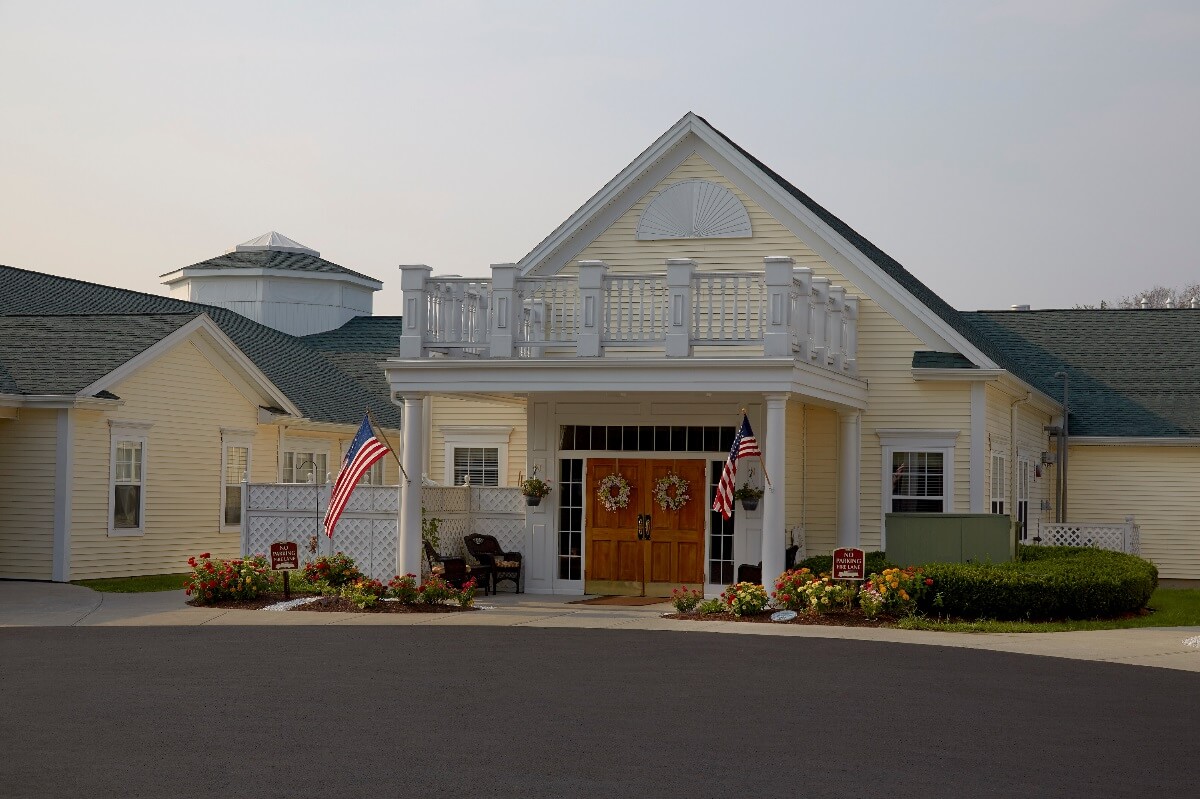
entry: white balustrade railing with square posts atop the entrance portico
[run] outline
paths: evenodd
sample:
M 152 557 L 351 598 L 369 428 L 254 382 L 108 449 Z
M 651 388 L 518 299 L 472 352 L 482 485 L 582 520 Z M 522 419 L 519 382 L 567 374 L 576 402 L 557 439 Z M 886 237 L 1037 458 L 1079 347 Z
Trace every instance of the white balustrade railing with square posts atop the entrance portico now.
M 659 349 L 689 356 L 696 347 L 758 348 L 764 356 L 857 372 L 858 299 L 796 266 L 763 259 L 762 271 L 700 271 L 689 259 L 665 274 L 610 274 L 580 262 L 578 275 L 432 277 L 403 266 L 403 358 L 540 358 L 550 350 L 601 356 L 612 349 Z

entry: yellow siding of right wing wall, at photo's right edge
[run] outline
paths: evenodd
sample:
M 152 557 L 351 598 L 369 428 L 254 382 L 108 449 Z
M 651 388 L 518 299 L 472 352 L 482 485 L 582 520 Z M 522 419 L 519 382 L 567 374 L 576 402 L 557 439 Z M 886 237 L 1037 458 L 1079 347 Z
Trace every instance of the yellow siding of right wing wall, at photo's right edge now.
M 1200 579 L 1200 449 L 1072 446 L 1068 518 L 1141 528 L 1141 554 L 1159 576 Z

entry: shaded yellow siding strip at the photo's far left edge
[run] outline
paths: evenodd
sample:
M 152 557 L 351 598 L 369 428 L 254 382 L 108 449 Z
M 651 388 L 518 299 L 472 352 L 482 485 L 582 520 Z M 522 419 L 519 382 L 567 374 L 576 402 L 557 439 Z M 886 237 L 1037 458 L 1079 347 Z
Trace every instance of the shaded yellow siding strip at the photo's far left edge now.
M 0 421 L 0 577 L 49 579 L 58 410 Z

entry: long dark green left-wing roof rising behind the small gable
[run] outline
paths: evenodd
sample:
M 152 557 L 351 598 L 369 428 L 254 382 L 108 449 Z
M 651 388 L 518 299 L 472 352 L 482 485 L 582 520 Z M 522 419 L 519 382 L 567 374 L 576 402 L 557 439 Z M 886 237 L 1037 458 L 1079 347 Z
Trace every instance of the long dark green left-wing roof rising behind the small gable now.
M 208 314 L 306 417 L 356 425 L 370 408 L 380 425 L 400 427 L 400 409 L 388 392 L 367 389 L 301 338 L 234 311 L 0 265 L 0 317 L 199 313 Z M 55 348 L 41 356 L 47 353 L 50 365 L 60 364 Z

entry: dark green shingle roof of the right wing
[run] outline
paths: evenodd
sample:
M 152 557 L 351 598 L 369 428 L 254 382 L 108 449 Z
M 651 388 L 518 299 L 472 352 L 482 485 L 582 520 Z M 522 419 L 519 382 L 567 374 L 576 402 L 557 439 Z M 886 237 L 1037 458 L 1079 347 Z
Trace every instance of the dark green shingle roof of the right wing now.
M 1200 311 L 977 311 L 972 325 L 1061 398 L 1070 385 L 1070 434 L 1200 435 Z

